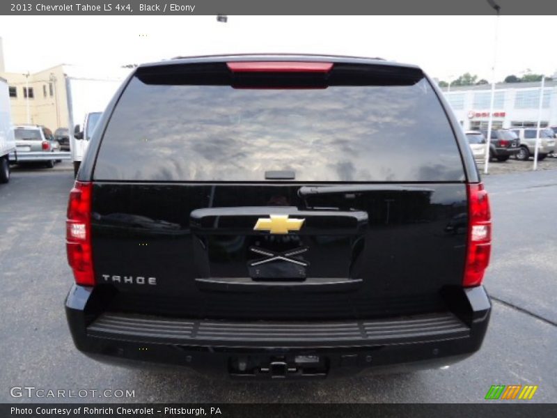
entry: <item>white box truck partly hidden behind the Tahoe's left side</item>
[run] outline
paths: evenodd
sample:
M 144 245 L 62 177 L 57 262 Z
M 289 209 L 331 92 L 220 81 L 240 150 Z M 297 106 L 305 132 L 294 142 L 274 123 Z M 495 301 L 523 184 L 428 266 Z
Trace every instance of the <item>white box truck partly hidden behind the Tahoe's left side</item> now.
M 131 70 L 127 68 L 100 70 L 73 65 L 68 65 L 64 70 L 68 98 L 70 152 L 74 174 L 77 175 L 102 111 Z

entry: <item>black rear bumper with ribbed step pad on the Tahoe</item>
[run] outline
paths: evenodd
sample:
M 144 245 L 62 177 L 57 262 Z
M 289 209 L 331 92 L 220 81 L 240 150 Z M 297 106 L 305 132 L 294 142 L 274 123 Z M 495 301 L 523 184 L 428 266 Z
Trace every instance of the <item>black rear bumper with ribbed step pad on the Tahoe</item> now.
M 74 343 L 102 362 L 187 366 L 233 378 L 323 378 L 443 366 L 481 346 L 491 305 L 483 287 L 448 289 L 454 310 L 343 321 L 189 320 L 102 311 L 103 295 L 73 286 Z

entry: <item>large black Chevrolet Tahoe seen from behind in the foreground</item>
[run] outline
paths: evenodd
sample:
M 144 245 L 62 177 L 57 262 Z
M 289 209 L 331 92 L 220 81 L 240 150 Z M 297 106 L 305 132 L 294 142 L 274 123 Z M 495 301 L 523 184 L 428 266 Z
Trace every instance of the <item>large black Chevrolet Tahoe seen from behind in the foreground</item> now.
M 423 127 L 427 127 L 424 129 Z M 68 205 L 79 350 L 235 378 L 436 367 L 481 346 L 487 194 L 413 65 L 141 65 Z

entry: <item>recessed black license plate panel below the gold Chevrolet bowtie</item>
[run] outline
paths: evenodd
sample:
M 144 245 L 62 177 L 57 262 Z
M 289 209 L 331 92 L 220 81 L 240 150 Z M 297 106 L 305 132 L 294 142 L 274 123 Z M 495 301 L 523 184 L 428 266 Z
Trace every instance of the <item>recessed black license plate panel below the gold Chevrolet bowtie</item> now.
M 274 214 L 304 219 L 295 233 L 255 231 Z M 198 277 L 253 281 L 356 278 L 365 245 L 365 212 L 297 208 L 211 208 L 191 213 Z

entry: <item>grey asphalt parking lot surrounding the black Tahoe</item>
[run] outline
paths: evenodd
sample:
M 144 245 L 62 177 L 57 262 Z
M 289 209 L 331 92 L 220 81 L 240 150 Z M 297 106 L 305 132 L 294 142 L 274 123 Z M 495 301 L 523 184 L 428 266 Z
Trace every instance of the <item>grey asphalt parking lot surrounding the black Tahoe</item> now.
M 531 162 L 530 162 L 531 163 Z M 557 166 L 557 159 L 544 162 Z M 501 164 L 528 164 L 509 161 Z M 530 165 L 530 164 L 528 164 Z M 550 167 L 551 168 L 551 167 Z M 446 370 L 313 382 L 232 382 L 180 370 L 99 364 L 73 346 L 63 300 L 72 283 L 65 258 L 67 162 L 14 169 L 0 185 L 0 401 L 11 387 L 126 389 L 134 402 L 480 402 L 491 385 L 538 385 L 533 401 L 557 396 L 557 170 L 485 176 L 494 217 L 492 265 L 485 285 L 495 298 L 482 350 Z M 62 400 L 63 401 L 63 400 Z

